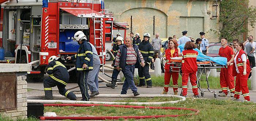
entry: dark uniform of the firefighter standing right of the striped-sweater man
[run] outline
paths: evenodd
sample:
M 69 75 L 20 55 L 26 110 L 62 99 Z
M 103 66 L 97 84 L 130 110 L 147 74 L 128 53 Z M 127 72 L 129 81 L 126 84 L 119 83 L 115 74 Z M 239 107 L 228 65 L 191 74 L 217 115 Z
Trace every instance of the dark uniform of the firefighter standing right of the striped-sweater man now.
M 140 67 L 139 70 L 139 78 L 140 78 L 140 83 L 137 86 L 144 86 L 145 85 L 145 80 L 147 82 L 147 87 L 152 87 L 152 80 L 151 76 L 149 74 L 149 66 L 151 64 L 151 61 L 154 56 L 154 50 L 152 45 L 148 41 L 142 40 L 142 43 L 139 44 L 139 50 L 140 53 L 143 56 L 143 59 L 145 60 L 145 66 Z

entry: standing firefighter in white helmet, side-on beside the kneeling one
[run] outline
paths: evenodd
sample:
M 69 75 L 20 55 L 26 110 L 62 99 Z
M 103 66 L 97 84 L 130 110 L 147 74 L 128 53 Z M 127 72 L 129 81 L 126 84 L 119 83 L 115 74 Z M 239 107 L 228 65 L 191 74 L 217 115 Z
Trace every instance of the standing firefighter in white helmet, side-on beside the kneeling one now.
M 79 49 L 76 55 L 67 57 L 68 60 L 76 60 L 76 70 L 78 72 L 78 85 L 82 93 L 81 101 L 89 101 L 87 77 L 90 70 L 93 70 L 93 52 L 90 43 L 82 31 L 74 35 L 74 40 L 78 41 Z

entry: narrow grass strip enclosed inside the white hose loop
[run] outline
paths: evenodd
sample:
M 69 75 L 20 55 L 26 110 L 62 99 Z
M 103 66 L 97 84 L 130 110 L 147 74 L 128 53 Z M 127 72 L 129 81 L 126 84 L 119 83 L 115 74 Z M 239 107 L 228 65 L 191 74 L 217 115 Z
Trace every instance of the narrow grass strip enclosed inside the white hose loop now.
M 126 98 L 125 100 L 116 100 L 115 102 L 166 102 L 180 100 L 177 97 L 140 97 L 140 98 Z

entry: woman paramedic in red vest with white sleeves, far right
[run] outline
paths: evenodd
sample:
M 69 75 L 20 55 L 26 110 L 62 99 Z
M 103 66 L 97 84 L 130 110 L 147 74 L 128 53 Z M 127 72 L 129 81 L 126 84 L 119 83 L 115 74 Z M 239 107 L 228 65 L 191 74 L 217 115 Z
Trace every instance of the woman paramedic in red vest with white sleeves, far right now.
M 234 58 L 233 76 L 236 76 L 236 86 L 234 100 L 240 101 L 240 92 L 244 96 L 245 101 L 250 101 L 249 89 L 247 80 L 251 72 L 250 62 L 246 56 L 244 45 L 242 43 L 236 44 L 236 56 Z

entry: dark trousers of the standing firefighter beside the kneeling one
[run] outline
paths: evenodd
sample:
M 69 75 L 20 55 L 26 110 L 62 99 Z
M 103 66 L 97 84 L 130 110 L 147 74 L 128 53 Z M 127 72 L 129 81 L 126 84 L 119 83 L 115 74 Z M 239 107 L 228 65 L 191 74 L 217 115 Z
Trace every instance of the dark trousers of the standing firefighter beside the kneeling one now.
M 89 71 L 79 70 L 77 71 L 77 84 L 80 88 L 80 91 L 82 93 L 82 100 L 89 101 L 90 96 L 88 94 L 88 86 L 87 86 L 87 77 Z

